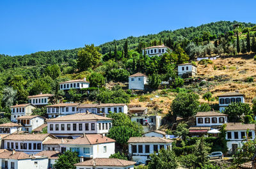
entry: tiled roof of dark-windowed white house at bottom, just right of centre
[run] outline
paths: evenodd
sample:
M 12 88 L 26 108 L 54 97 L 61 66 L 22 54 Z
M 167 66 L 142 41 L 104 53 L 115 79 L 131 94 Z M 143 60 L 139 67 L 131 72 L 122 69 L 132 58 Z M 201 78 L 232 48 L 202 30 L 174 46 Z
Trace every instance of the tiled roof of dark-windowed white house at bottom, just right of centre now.
M 129 138 L 127 143 L 171 143 L 172 140 L 160 137 L 151 137 L 151 136 L 143 136 L 143 137 L 131 137 Z

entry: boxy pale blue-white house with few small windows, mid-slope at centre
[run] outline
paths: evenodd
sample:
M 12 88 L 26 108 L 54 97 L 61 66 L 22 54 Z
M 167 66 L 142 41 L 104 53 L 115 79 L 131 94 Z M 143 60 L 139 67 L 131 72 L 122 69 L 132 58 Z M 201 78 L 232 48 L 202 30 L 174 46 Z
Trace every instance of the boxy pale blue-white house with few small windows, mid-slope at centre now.
M 147 84 L 147 76 L 138 72 L 129 76 L 129 89 L 144 90 L 144 86 Z

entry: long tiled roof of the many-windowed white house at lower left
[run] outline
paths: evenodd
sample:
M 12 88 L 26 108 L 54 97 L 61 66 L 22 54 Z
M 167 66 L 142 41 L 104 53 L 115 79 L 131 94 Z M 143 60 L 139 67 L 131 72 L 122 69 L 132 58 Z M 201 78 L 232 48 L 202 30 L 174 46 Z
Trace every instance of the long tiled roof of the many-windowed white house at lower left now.
M 47 137 L 56 138 L 56 136 L 51 134 L 12 134 L 3 138 L 3 140 L 35 140 L 44 141 Z

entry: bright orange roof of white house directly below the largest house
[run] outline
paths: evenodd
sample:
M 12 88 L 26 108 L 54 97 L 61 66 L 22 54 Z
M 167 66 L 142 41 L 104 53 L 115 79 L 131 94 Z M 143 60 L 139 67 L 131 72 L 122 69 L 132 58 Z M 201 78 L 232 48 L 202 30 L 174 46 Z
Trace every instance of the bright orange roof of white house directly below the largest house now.
M 78 138 L 63 144 L 78 144 L 78 145 L 92 145 L 98 143 L 111 143 L 116 142 L 112 138 L 108 138 L 107 136 L 103 136 L 100 134 L 93 134 L 93 135 L 83 135 L 79 136 Z

